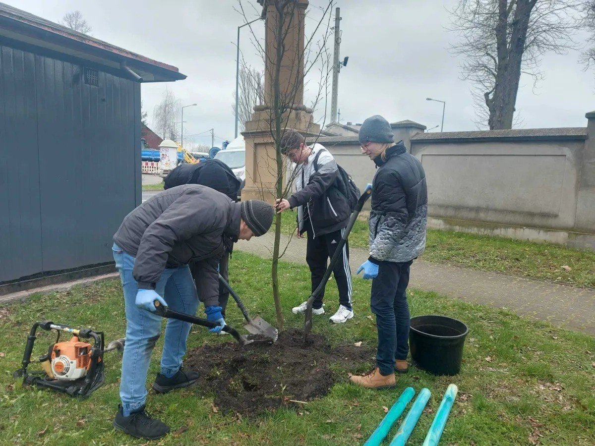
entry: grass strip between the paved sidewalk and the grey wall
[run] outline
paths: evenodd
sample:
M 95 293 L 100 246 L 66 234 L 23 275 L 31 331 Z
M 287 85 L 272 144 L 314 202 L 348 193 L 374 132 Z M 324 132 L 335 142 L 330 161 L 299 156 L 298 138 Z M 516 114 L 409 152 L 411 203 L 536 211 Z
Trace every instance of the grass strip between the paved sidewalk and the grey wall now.
M 295 216 L 295 212 L 283 213 L 284 233 L 295 229 Z M 356 222 L 349 235 L 349 246 L 368 248 L 367 221 Z M 425 252 L 419 258 L 577 287 L 595 287 L 595 252 L 550 243 L 428 230 Z

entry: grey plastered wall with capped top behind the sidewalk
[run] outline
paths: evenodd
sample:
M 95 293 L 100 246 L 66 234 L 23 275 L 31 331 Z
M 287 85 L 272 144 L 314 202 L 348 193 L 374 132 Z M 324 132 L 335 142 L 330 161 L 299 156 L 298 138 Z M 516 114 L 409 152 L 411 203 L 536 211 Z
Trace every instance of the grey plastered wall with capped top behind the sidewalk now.
M 595 112 L 586 116 L 575 128 L 393 130 L 424 166 L 431 227 L 595 249 Z M 354 137 L 318 142 L 358 187 L 371 182 L 374 163 Z

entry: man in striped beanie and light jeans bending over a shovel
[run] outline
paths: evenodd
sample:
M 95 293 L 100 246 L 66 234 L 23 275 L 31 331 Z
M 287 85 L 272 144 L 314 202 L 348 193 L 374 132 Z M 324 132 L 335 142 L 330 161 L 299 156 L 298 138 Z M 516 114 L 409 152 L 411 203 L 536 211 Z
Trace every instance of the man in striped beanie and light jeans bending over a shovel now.
M 114 235 L 115 265 L 120 272 L 126 307 L 126 344 L 122 358 L 120 400 L 114 427 L 137 438 L 161 438 L 170 428 L 145 412 L 146 376 L 162 318 L 154 301 L 194 315 L 196 287 L 189 263 L 198 271 L 197 284 L 209 321 L 226 325 L 218 302 L 217 265 L 228 241 L 265 234 L 273 207 L 260 200 L 235 203 L 215 190 L 196 184 L 173 187 L 142 203 Z M 181 370 L 191 324 L 168 319 L 161 354 L 157 392 L 187 387 L 198 373 Z

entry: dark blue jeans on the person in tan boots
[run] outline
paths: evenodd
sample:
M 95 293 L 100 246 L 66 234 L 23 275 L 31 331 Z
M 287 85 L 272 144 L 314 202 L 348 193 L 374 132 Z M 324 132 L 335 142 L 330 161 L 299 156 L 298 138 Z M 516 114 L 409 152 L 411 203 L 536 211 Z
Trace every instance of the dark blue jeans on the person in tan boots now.
M 394 373 L 394 360 L 407 359 L 409 353 L 409 268 L 405 263 L 381 262 L 378 277 L 372 280 L 370 306 L 376 315 L 378 351 L 376 365 L 383 375 Z

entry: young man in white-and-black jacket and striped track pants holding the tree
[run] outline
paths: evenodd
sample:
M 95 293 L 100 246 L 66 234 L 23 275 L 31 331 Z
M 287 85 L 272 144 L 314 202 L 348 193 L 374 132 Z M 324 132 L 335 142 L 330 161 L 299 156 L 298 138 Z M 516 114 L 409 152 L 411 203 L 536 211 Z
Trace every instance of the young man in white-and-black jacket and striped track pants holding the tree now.
M 295 162 L 296 193 L 289 199 L 278 199 L 277 212 L 297 208 L 297 234 L 308 234 L 306 263 L 312 277 L 312 292 L 318 288 L 327 262 L 333 257 L 335 248 L 349 222 L 351 209 L 345 193 L 336 186 L 339 168 L 333 155 L 324 146 L 307 146 L 302 134 L 288 130 L 281 138 L 281 153 Z M 330 321 L 345 323 L 353 318 L 351 270 L 349 269 L 349 246 L 343 246 L 342 253 L 333 269 L 339 288 L 339 309 Z M 312 304 L 312 314 L 324 315 L 322 298 L 324 290 Z M 306 302 L 293 307 L 295 314 L 306 311 Z

